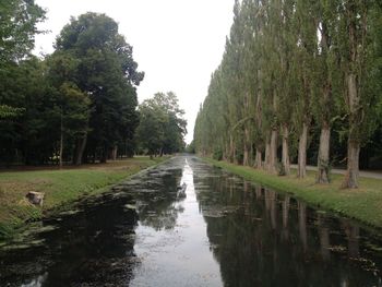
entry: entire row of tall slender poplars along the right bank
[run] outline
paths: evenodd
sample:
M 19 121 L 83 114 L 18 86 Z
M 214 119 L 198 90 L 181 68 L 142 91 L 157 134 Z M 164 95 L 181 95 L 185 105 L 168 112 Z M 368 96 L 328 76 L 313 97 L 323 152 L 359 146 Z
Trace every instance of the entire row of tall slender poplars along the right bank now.
M 220 65 L 195 122 L 194 146 L 270 172 L 327 182 L 382 159 L 382 5 L 358 0 L 236 1 Z M 361 160 L 360 160 L 361 159 Z M 375 160 L 377 159 L 377 160 Z

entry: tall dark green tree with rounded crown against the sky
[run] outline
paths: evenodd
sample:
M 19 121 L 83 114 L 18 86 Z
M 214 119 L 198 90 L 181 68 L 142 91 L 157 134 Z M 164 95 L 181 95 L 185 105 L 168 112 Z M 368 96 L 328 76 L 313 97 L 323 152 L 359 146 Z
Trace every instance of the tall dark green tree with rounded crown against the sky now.
M 135 87 L 144 74 L 136 71 L 132 47 L 105 14 L 86 13 L 71 19 L 57 38 L 56 49 L 77 61 L 77 87 L 91 98 L 89 129 L 77 142 L 87 155 L 106 162 L 119 143 L 132 140 L 138 125 Z M 80 162 L 80 155 L 75 162 Z

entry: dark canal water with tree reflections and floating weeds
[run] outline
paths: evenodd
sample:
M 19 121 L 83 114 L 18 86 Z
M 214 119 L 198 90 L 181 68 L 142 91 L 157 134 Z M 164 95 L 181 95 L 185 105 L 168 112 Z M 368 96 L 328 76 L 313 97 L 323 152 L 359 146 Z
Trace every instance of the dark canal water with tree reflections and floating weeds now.
M 382 286 L 379 230 L 195 157 L 141 172 L 21 238 L 0 250 L 0 286 Z

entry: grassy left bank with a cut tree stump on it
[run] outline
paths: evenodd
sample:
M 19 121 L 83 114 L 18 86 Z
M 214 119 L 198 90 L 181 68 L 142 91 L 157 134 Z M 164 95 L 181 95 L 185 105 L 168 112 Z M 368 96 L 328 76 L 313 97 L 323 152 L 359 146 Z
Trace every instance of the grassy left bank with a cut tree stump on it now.
M 11 237 L 26 220 L 41 218 L 49 211 L 99 193 L 108 186 L 165 159 L 167 158 L 134 157 L 61 170 L 0 172 L 0 238 Z M 28 191 L 45 192 L 43 207 L 27 202 L 25 194 Z

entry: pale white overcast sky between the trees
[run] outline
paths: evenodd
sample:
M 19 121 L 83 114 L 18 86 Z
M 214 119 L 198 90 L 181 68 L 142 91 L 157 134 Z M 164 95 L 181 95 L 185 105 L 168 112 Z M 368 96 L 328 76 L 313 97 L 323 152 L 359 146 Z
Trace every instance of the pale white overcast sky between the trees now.
M 36 36 L 35 53 L 50 53 L 70 16 L 105 13 L 119 23 L 119 33 L 133 46 L 133 58 L 145 79 L 139 101 L 172 91 L 186 111 L 190 143 L 200 104 L 211 74 L 220 63 L 232 23 L 235 0 L 36 0 L 47 10 L 39 24 L 49 33 Z

